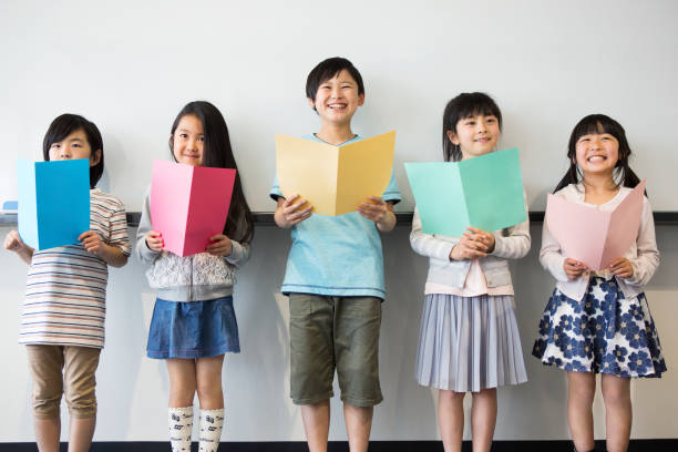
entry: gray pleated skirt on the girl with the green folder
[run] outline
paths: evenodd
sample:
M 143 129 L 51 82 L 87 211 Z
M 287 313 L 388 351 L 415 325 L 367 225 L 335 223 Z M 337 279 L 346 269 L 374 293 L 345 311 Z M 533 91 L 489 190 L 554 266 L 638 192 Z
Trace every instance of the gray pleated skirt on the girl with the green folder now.
M 427 295 L 414 378 L 455 392 L 527 381 L 513 296 Z

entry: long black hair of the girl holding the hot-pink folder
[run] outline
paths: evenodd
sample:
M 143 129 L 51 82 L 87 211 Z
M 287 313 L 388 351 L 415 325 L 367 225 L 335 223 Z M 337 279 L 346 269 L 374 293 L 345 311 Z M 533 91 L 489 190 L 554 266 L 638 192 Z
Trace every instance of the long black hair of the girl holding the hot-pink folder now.
M 187 103 L 182 111 L 176 115 L 174 124 L 172 124 L 172 136 L 170 137 L 170 153 L 174 157 L 173 137 L 176 127 L 182 117 L 194 115 L 203 124 L 203 133 L 205 134 L 205 143 L 203 144 L 203 166 L 214 168 L 234 168 L 236 170 L 235 184 L 233 187 L 233 197 L 230 199 L 230 208 L 228 209 L 228 218 L 224 226 L 224 235 L 240 243 L 250 243 L 254 237 L 254 216 L 245 199 L 243 185 L 240 184 L 240 172 L 237 171 L 233 150 L 230 148 L 230 137 L 226 121 L 219 110 L 205 101 L 195 101 Z

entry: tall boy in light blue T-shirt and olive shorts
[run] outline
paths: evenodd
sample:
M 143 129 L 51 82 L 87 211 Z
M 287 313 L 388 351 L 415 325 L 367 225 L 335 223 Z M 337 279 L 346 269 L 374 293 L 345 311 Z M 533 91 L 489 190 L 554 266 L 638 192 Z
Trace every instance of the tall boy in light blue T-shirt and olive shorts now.
M 319 63 L 308 75 L 306 96 L 320 116 L 320 131 L 308 140 L 333 145 L 360 140 L 351 117 L 364 102 L 360 72 L 343 58 Z M 282 294 L 289 296 L 290 387 L 311 452 L 326 451 L 329 399 L 335 368 L 351 451 L 367 451 L 373 407 L 381 402 L 379 327 L 383 258 L 379 232 L 396 226 L 392 205 L 400 201 L 393 175 L 381 197 L 370 196 L 358 212 L 311 215 L 295 194 L 285 199 L 277 176 L 276 224 L 291 227 Z

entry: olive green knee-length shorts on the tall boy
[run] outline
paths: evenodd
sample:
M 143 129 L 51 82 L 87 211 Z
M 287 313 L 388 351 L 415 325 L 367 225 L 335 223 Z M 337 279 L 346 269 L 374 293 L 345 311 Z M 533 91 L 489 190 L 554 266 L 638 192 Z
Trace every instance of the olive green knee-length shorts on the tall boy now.
M 329 400 L 335 369 L 341 400 L 373 407 L 379 384 L 381 299 L 289 295 L 290 392 L 296 404 Z

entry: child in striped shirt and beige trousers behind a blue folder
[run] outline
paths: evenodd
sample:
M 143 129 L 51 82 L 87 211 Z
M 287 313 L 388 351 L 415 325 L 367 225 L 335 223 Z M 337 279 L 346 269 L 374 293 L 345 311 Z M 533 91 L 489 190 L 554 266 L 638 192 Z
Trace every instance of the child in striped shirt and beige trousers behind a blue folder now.
M 104 346 L 107 266 L 130 256 L 125 207 L 95 188 L 103 174 L 101 133 L 75 114 L 56 117 L 43 141 L 45 161 L 90 161 L 90 230 L 80 245 L 34 250 L 16 230 L 4 247 L 29 267 L 19 343 L 33 378 L 33 422 L 41 452 L 58 451 L 61 394 L 71 414 L 69 451 L 89 451 L 96 423 L 94 372 Z M 64 213 L 65 214 L 65 213 Z

